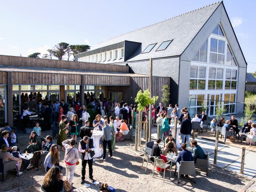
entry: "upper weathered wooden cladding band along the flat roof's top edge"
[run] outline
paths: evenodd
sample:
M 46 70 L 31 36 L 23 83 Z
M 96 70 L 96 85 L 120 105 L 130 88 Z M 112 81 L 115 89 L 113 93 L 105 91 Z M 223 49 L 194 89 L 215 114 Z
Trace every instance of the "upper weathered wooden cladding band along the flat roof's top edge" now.
M 65 60 L 51 60 L 41 58 L 29 58 L 18 56 L 0 55 L 0 65 L 32 67 L 32 68 L 55 68 L 72 70 L 90 70 L 90 71 L 111 71 L 111 72 L 129 72 L 129 66 L 88 63 Z

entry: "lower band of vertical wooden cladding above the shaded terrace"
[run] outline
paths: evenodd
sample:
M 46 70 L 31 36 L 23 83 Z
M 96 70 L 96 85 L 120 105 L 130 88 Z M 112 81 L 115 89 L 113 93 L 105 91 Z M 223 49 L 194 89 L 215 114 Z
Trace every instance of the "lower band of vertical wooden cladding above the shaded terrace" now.
M 81 85 L 82 77 L 85 85 L 130 85 L 129 76 L 56 74 L 34 72 L 11 72 L 12 84 L 45 84 L 45 85 Z M 1 78 L 3 77 L 3 78 Z M 7 84 L 7 72 L 0 72 L 0 79 Z

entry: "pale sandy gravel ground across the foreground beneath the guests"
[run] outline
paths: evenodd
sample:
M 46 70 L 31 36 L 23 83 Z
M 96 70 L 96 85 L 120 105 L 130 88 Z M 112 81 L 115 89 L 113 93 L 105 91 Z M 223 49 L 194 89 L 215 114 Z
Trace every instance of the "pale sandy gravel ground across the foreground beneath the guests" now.
M 50 134 L 50 132 L 43 132 L 43 136 Z M 56 142 L 57 138 L 54 138 Z M 24 150 L 26 143 L 29 141 L 28 135 L 19 136 L 18 147 L 20 150 Z M 174 167 L 172 168 L 172 177 L 170 178 L 170 172 L 166 172 L 166 179 L 163 183 L 163 173 L 157 173 L 152 177 L 152 164 L 148 164 L 148 169 L 145 174 L 144 167 L 141 167 L 142 156 L 138 152 L 132 151 L 132 145 L 130 141 L 118 142 L 116 144 L 116 150 L 113 154 L 114 159 L 106 157 L 106 162 L 96 160 L 93 164 L 94 179 L 100 183 L 107 182 L 108 185 L 113 186 L 116 192 L 133 192 L 133 191 L 208 191 L 208 192 L 235 192 L 244 190 L 245 186 L 251 181 L 249 179 L 237 176 L 230 172 L 226 172 L 222 169 L 210 166 L 209 176 L 206 176 L 204 170 L 196 169 L 196 178 L 181 178 L 180 183 L 177 184 L 177 174 L 174 176 Z M 78 146 L 77 146 L 78 148 Z M 60 152 L 60 165 L 64 166 L 63 162 L 64 152 Z M 80 160 L 81 161 L 81 160 Z M 81 187 L 80 175 L 81 175 L 81 163 L 76 167 L 74 175 L 75 187 Z M 65 168 L 63 170 L 65 178 Z M 14 188 L 22 188 L 24 192 L 37 192 L 41 191 L 40 186 L 42 179 L 45 175 L 44 168 L 41 167 L 37 170 L 24 170 L 20 177 L 16 177 L 14 172 L 8 172 L 6 175 L 6 182 L 0 184 L 0 191 L 7 191 Z M 2 178 L 0 176 L 0 180 Z M 89 180 L 88 168 L 86 168 L 86 180 Z M 90 182 L 88 182 L 90 183 Z M 255 191 L 256 184 L 254 183 L 248 192 Z

